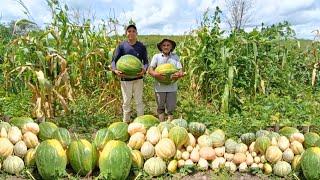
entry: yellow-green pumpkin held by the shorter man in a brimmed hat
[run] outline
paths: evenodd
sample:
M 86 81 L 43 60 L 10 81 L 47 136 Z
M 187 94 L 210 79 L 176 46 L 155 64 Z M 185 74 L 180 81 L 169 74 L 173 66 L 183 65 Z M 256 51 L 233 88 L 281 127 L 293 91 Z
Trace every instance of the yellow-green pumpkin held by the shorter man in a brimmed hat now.
M 164 76 L 164 79 L 157 79 L 162 84 L 172 84 L 176 80 L 171 79 L 171 75 L 178 72 L 179 70 L 171 63 L 160 64 L 156 67 L 155 72 L 160 73 Z

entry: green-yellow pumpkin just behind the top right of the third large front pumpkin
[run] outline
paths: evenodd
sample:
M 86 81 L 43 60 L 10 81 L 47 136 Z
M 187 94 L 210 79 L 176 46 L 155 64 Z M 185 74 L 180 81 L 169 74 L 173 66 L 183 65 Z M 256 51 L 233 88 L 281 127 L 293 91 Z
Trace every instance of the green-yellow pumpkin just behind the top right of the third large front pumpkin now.
M 111 131 L 115 140 L 126 142 L 129 139 L 128 124 L 125 122 L 115 122 L 108 127 L 108 131 Z

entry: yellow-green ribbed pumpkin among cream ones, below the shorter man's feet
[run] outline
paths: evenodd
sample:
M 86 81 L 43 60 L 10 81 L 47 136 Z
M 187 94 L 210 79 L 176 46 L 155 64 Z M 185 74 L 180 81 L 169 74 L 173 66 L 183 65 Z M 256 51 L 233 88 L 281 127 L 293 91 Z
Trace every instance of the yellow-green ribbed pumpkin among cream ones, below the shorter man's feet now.
M 169 139 L 174 142 L 178 149 L 188 142 L 188 138 L 188 131 L 183 127 L 176 126 L 169 131 Z

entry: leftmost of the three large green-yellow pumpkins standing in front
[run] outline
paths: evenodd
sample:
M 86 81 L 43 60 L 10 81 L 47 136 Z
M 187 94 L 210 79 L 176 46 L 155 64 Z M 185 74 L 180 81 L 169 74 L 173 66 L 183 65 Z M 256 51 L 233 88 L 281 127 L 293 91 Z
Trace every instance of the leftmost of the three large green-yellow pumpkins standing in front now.
M 36 164 L 43 179 L 57 179 L 66 174 L 67 154 L 58 140 L 49 139 L 37 147 Z

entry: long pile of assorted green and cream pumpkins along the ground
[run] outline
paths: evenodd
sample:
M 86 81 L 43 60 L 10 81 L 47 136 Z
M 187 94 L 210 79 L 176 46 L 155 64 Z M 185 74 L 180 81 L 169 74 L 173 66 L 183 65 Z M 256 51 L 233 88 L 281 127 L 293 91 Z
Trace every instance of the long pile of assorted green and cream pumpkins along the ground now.
M 72 140 L 67 129 L 51 122 L 38 125 L 30 118 L 0 122 L 0 130 L 0 169 L 2 165 L 10 174 L 36 166 L 43 179 L 55 179 L 66 174 L 69 163 L 81 176 L 99 167 L 99 176 L 107 179 L 126 179 L 132 169 L 155 177 L 185 166 L 230 172 L 261 169 L 280 177 L 301 169 L 306 179 L 320 179 L 319 135 L 293 127 L 227 139 L 222 130 L 209 132 L 202 123 L 159 122 L 144 115 L 98 130 L 92 143 Z

